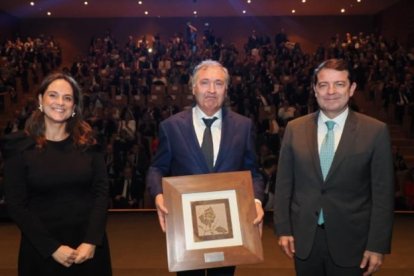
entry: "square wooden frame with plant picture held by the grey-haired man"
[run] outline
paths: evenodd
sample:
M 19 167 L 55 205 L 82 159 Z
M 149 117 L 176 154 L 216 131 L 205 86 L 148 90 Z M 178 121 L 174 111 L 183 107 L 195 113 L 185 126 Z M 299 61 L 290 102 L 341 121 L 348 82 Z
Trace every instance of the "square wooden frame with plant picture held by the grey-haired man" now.
M 263 261 L 250 171 L 163 177 L 170 272 Z

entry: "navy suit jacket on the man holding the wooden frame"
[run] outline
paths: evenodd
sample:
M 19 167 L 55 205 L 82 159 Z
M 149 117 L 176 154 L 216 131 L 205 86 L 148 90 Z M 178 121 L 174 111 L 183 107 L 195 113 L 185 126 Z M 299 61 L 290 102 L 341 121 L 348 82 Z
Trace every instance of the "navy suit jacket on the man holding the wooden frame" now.
M 253 125 L 250 119 L 223 108 L 221 144 L 212 172 L 250 170 L 257 199 L 263 199 L 263 181 L 257 169 Z M 182 111 L 160 124 L 157 153 L 147 174 L 152 196 L 162 193 L 163 176 L 210 173 L 193 126 L 192 110 Z

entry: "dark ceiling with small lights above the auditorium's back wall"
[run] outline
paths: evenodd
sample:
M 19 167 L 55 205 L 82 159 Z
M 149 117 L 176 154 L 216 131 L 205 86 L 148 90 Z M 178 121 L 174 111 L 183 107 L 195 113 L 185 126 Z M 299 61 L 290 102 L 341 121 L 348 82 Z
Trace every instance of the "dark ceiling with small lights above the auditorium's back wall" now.
M 85 0 L 33 0 L 34 5 L 31 5 L 30 0 L 1 0 L 0 11 L 18 18 L 47 17 L 47 12 L 54 18 L 373 15 L 398 1 L 88 0 L 85 5 Z M 341 13 L 341 9 L 345 9 L 345 12 Z M 292 13 L 292 10 L 295 10 L 295 13 Z

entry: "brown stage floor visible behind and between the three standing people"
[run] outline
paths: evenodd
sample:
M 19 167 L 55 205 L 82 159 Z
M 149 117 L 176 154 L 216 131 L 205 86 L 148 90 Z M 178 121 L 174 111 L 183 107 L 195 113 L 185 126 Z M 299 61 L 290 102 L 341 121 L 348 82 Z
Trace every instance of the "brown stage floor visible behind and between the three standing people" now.
M 167 269 L 165 236 L 155 211 L 111 212 L 107 227 L 114 276 L 173 275 Z M 16 276 L 20 233 L 10 221 L 0 222 L 0 275 Z M 270 216 L 263 229 L 265 260 L 236 269 L 237 276 L 293 276 L 293 264 L 277 245 Z M 378 276 L 414 275 L 414 214 L 396 214 L 392 254 Z

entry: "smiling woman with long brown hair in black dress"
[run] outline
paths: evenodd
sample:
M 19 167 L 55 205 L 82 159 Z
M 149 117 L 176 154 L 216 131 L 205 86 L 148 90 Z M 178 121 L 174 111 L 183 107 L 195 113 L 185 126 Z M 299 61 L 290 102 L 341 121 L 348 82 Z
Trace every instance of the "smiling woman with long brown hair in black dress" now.
M 6 202 L 22 233 L 20 276 L 112 274 L 106 168 L 81 97 L 69 75 L 47 76 L 24 133 L 2 141 Z

